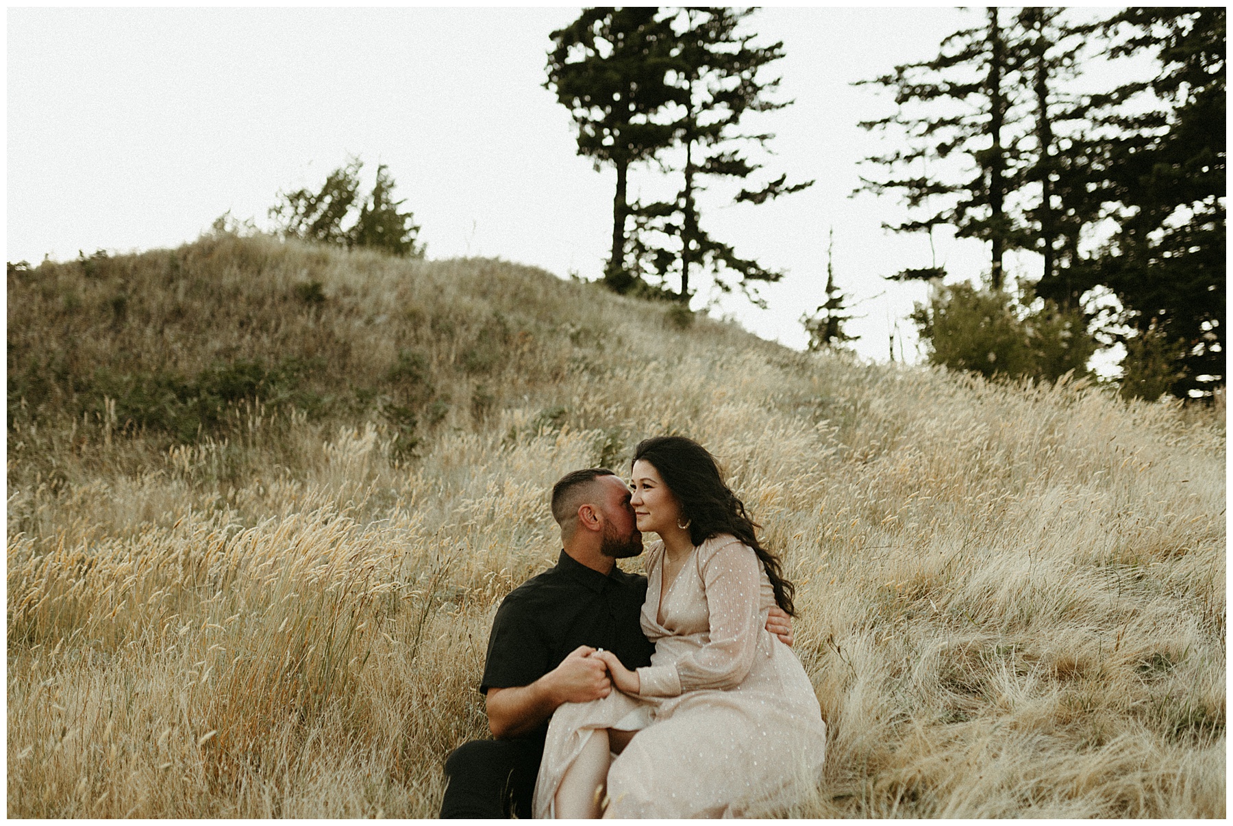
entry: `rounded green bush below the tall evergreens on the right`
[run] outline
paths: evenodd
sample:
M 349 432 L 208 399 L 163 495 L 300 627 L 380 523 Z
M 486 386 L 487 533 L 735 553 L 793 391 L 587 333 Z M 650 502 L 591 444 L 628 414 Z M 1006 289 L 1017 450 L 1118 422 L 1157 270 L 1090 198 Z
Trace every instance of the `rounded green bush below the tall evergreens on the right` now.
M 1096 351 L 1080 313 L 1053 302 L 1032 310 L 1005 291 L 967 283 L 935 288 L 911 318 L 931 363 L 985 378 L 1055 382 L 1070 372 L 1086 375 Z

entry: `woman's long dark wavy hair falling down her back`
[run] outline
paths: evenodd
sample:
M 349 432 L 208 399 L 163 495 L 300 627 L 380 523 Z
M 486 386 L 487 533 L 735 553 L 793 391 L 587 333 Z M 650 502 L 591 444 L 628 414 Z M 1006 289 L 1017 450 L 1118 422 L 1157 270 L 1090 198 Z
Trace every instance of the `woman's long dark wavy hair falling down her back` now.
M 663 484 L 681 505 L 682 516 L 689 521 L 689 540 L 700 545 L 711 537 L 730 533 L 753 549 L 771 580 L 774 601 L 788 615 L 795 617 L 792 598 L 797 586 L 783 577 L 779 558 L 758 543 L 760 527 L 745 511 L 745 503 L 724 483 L 707 448 L 684 436 L 653 436 L 634 448 L 634 462 L 650 462 Z

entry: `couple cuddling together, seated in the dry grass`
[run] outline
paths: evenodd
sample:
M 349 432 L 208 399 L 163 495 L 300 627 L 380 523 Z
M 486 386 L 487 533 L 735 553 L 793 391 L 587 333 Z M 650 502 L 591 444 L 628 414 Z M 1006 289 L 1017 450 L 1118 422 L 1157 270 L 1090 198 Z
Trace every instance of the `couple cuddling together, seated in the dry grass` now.
M 697 442 L 641 442 L 552 489 L 557 564 L 509 593 L 480 691 L 496 740 L 445 763 L 441 817 L 757 816 L 826 742 L 792 644 L 793 586 Z M 647 576 L 616 567 L 647 549 Z

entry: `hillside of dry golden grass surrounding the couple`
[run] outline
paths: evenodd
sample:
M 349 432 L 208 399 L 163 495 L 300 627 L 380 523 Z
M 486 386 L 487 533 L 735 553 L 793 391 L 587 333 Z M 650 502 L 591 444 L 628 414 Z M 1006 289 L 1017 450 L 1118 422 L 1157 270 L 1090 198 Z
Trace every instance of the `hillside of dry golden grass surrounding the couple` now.
M 264 238 L 10 272 L 9 815 L 433 816 L 549 486 L 666 431 L 799 586 L 779 814 L 1224 815 L 1222 416 L 682 325 Z

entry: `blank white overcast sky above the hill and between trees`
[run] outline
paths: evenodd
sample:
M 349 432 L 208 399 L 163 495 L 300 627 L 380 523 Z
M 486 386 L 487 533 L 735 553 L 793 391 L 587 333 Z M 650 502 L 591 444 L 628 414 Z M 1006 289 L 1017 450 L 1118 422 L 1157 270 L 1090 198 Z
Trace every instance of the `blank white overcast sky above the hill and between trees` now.
M 615 175 L 577 156 L 568 112 L 543 87 L 552 9 L 10 9 L 9 261 L 79 250 L 144 250 L 195 239 L 222 213 L 268 225 L 276 192 L 319 186 L 349 155 L 385 162 L 423 227 L 432 259 L 485 255 L 559 276 L 600 275 Z M 857 161 L 880 151 L 857 122 L 889 103 L 873 78 L 936 54 L 978 12 L 948 7 L 760 10 L 748 27 L 783 41 L 776 69 L 795 103 L 761 116 L 777 133 L 767 171 L 817 183 L 707 222 L 742 256 L 785 270 L 766 311 L 721 309 L 767 339 L 803 347 L 803 313 L 822 300 L 826 233 L 840 286 L 868 299 L 850 331 L 885 359 L 888 332 L 921 284 L 882 276 L 928 266 L 925 236 L 896 236 L 894 198 L 850 198 Z M 636 169 L 631 194 L 656 186 Z M 936 236 L 959 277 L 988 268 L 984 245 Z M 1031 266 L 1030 259 L 1010 262 Z M 880 298 L 872 298 L 882 294 Z M 703 292 L 694 305 L 705 303 Z M 896 357 L 899 347 L 896 346 Z

